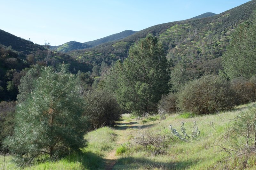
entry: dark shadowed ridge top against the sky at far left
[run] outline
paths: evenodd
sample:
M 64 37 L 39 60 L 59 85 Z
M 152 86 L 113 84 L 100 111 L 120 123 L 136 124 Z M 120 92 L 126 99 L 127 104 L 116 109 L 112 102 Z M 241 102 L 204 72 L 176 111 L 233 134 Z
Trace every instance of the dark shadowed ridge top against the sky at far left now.
M 13 50 L 29 54 L 31 51 L 46 50 L 43 46 L 31 41 L 17 37 L 0 29 L 0 43 L 6 47 L 11 46 Z

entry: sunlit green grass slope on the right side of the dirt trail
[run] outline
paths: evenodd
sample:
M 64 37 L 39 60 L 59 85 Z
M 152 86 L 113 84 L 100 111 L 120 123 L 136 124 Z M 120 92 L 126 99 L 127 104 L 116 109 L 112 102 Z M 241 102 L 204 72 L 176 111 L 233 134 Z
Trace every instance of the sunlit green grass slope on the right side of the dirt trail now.
M 230 128 L 232 119 L 247 108 L 248 105 L 240 105 L 230 111 L 197 117 L 191 117 L 188 113 L 168 115 L 165 120 L 160 120 L 161 126 L 164 126 L 166 131 L 169 131 L 168 127 L 171 124 L 181 134 L 180 125 L 183 121 L 187 133 L 191 134 L 194 121 L 196 121 L 201 131 L 201 138 L 198 141 L 170 143 L 170 149 L 167 149 L 166 154 L 163 155 L 153 155 L 145 151 L 134 142 L 133 138 L 130 138 L 127 142 L 133 144 L 118 159 L 114 169 L 212 169 L 216 165 L 216 169 L 234 169 L 235 167 L 243 169 L 243 158 L 236 160 L 237 162 L 230 159 L 227 162 L 218 163 L 228 154 L 220 152 L 220 149 L 214 147 L 213 143 L 222 142 L 222 135 Z M 143 129 L 145 132 L 149 131 L 153 134 L 159 132 L 157 120 L 147 121 L 143 126 L 146 127 Z M 140 129 L 139 131 L 144 133 Z M 140 137 L 138 133 L 134 136 Z M 249 155 L 244 160 L 248 160 L 252 169 L 255 168 L 255 155 L 254 157 Z

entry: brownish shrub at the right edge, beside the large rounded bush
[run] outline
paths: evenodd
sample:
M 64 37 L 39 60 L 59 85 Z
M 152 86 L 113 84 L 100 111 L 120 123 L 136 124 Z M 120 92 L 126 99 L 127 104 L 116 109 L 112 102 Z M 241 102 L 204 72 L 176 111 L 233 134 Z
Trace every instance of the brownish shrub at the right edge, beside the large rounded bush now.
M 248 79 L 234 79 L 231 81 L 231 89 L 234 92 L 234 102 L 238 104 L 246 104 L 255 101 L 255 83 Z

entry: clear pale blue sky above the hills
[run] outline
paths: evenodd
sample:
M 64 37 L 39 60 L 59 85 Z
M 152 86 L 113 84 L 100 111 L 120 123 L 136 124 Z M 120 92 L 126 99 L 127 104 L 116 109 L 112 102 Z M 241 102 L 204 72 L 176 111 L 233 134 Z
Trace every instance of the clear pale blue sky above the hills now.
M 221 13 L 249 0 L 0 0 L 0 29 L 34 43 L 87 42 L 124 30 Z

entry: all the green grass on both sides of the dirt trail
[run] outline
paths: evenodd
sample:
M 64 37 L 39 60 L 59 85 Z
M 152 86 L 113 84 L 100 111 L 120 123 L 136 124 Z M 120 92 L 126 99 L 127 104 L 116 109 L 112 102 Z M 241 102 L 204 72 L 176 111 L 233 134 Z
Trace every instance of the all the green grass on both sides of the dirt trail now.
M 253 103 L 252 103 L 253 104 Z M 239 159 L 231 159 L 220 162 L 228 154 L 220 152 L 214 147 L 214 143 L 221 143 L 222 135 L 230 128 L 232 119 L 241 111 L 246 111 L 249 105 L 239 105 L 235 109 L 191 117 L 188 113 L 166 115 L 165 120 L 159 120 L 157 116 L 150 116 L 146 122 L 135 120 L 130 114 L 122 115 L 122 123 L 116 129 L 103 127 L 85 135 L 88 146 L 81 149 L 80 153 L 70 155 L 58 161 L 46 161 L 25 169 L 104 169 L 103 157 L 116 148 L 117 163 L 113 169 L 247 169 L 256 168 L 255 154 L 245 154 Z M 134 138 L 140 138 L 140 134 L 159 132 L 159 122 L 169 132 L 169 125 L 176 128 L 181 134 L 181 121 L 185 123 L 187 134 L 190 135 L 194 121 L 201 131 L 198 141 L 170 143 L 170 148 L 165 154 L 153 155 L 137 144 Z M 145 120 L 145 119 L 144 119 Z M 162 130 L 164 128 L 161 128 Z M 139 133 L 140 132 L 140 133 Z M 116 135 L 118 134 L 118 135 Z M 119 143 L 115 143 L 116 141 Z M 120 144 L 122 144 L 120 146 Z M 5 157 L 4 169 L 15 169 L 11 156 Z M 3 169 L 3 156 L 0 156 L 0 169 Z M 20 169 L 20 168 L 18 168 Z

